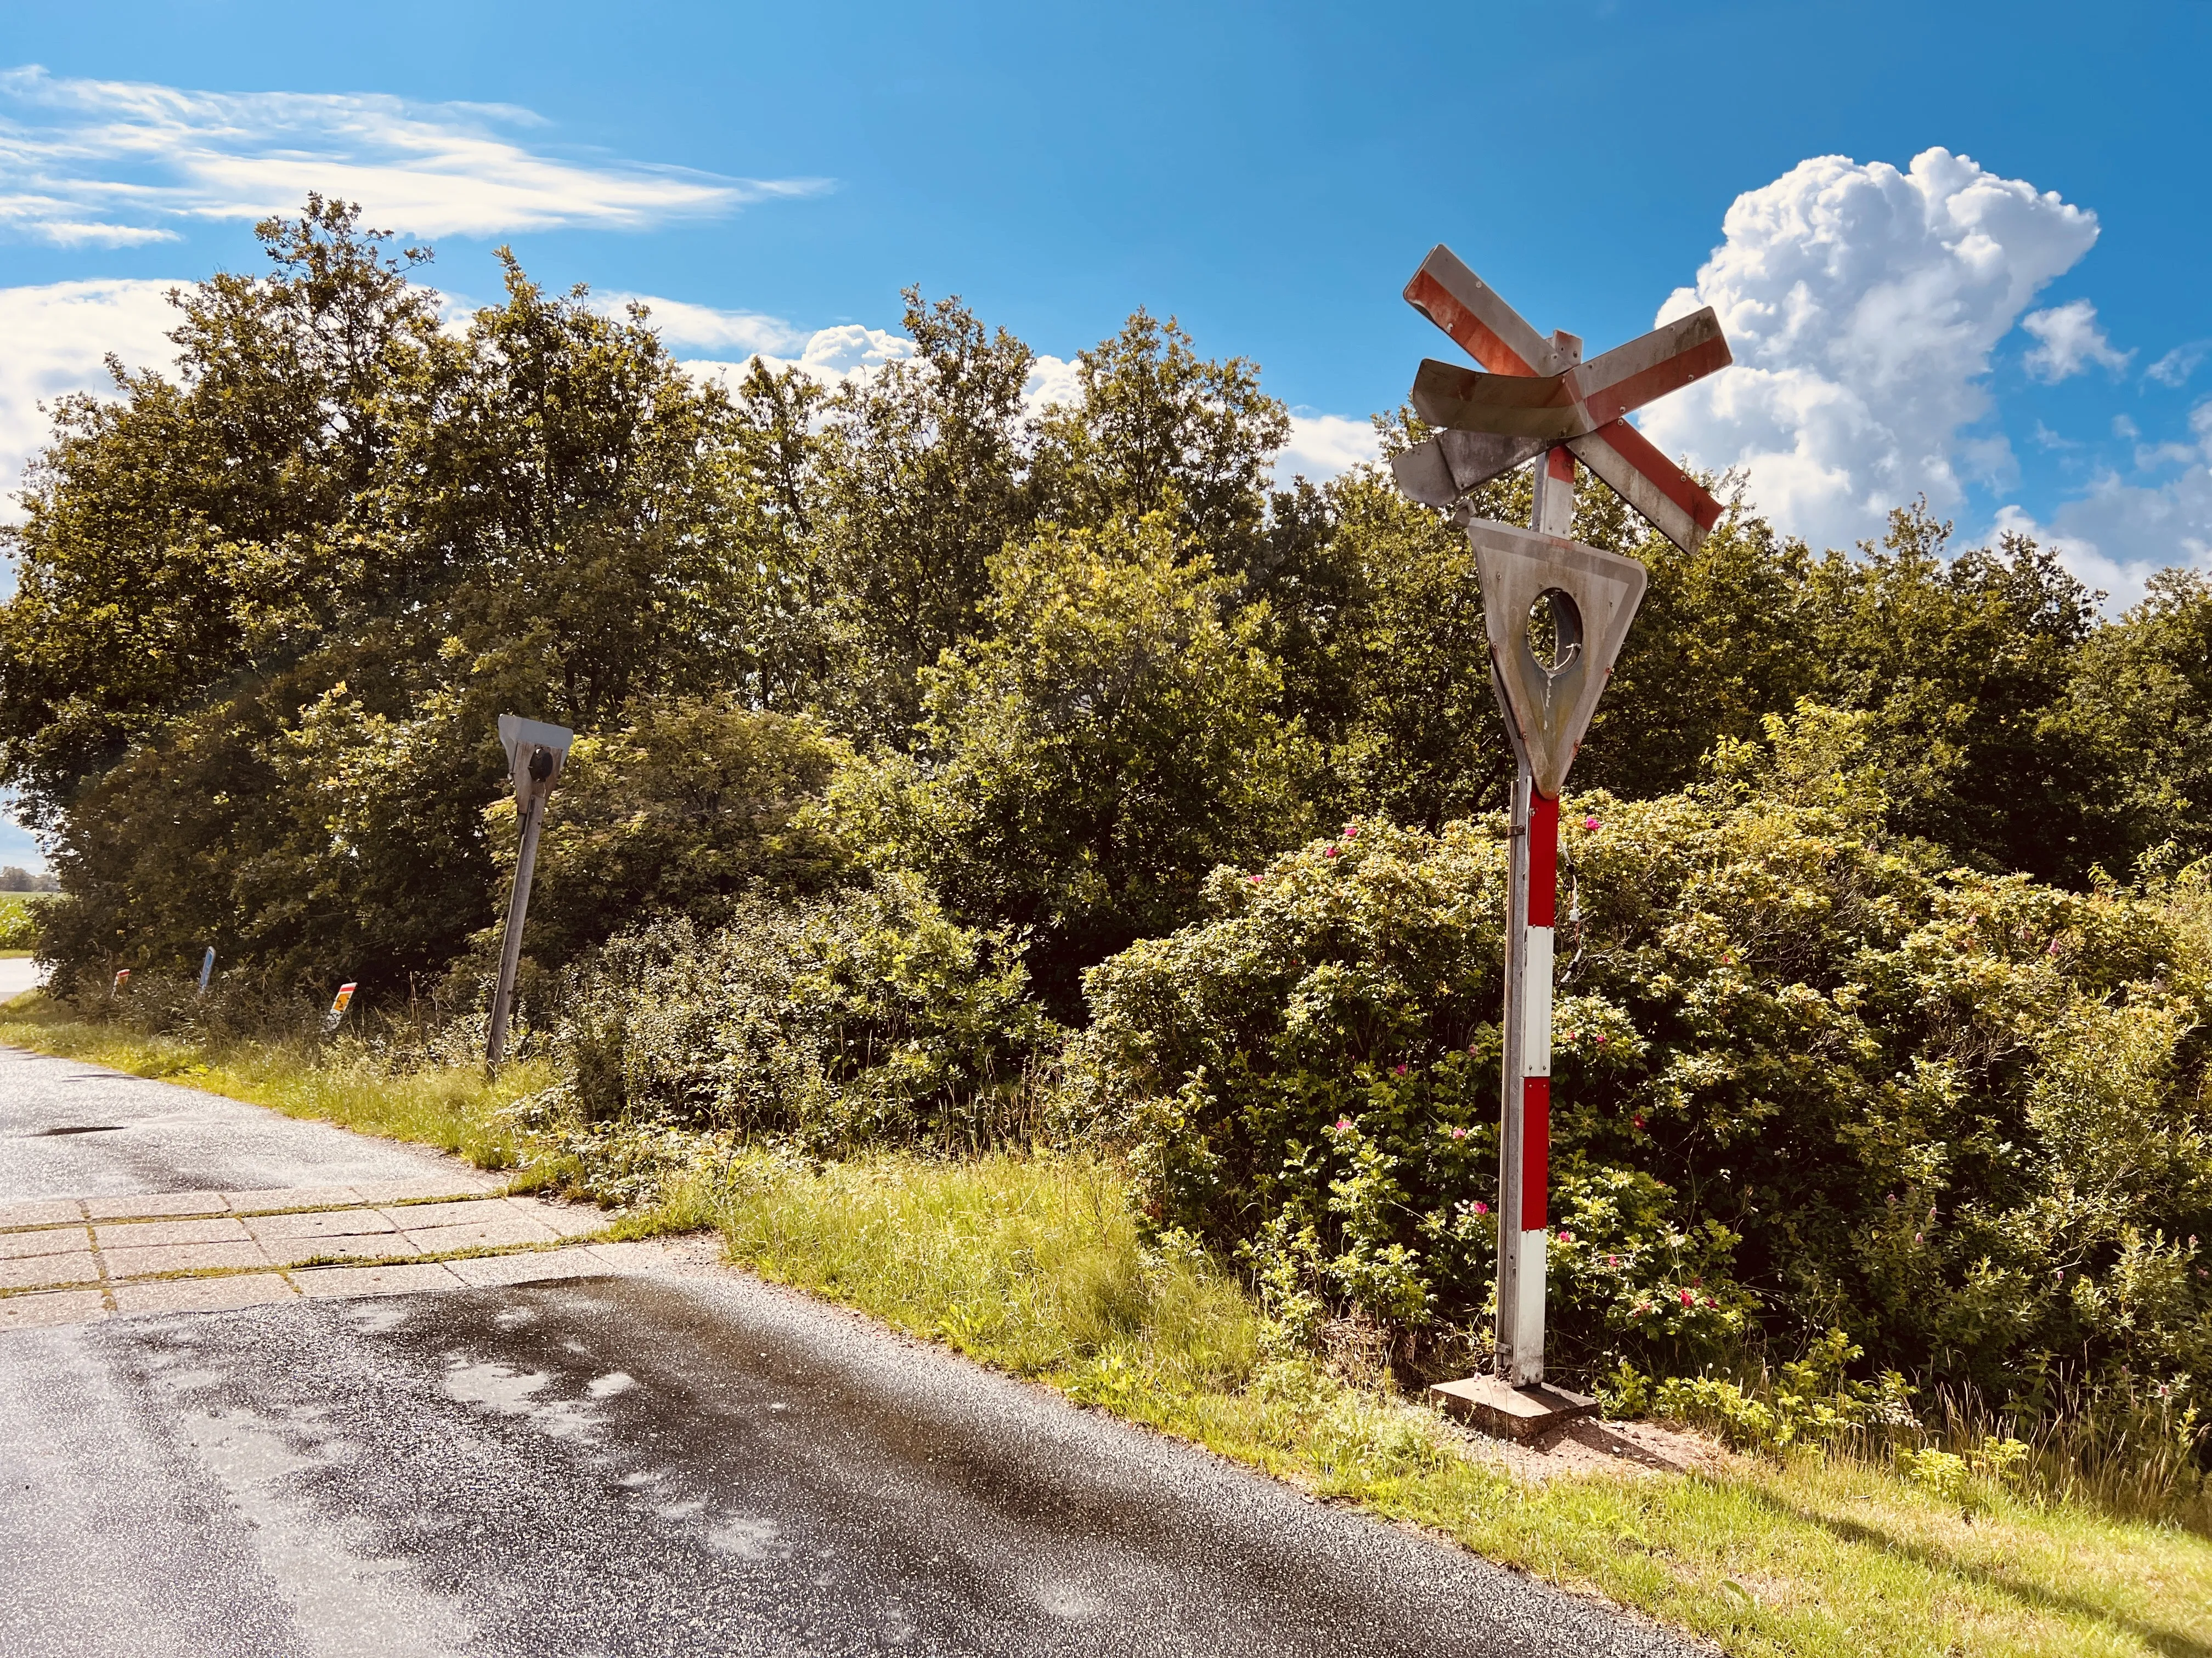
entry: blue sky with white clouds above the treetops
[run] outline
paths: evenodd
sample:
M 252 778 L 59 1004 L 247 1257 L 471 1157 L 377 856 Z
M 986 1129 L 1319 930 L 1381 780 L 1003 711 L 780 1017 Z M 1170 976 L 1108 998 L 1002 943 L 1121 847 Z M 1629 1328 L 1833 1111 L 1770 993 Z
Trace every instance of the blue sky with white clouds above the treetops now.
M 2212 564 L 2208 0 L 0 15 L 0 473 L 323 183 L 695 360 L 865 367 L 905 283 L 1060 360 L 1172 312 L 1316 473 L 1451 356 L 1398 298 L 1449 241 L 1593 349 L 1717 303 L 1743 367 L 1646 429 L 1814 542 L 1927 491 L 2117 604 Z

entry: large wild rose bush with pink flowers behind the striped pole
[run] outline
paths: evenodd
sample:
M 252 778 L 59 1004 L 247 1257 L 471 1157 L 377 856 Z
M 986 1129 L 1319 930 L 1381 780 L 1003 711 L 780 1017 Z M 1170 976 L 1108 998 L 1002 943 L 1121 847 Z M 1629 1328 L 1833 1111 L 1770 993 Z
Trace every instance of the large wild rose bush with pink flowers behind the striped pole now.
M 2212 886 L 2077 895 L 1885 827 L 1805 707 L 1562 814 L 1553 1355 L 1683 1373 L 1838 1329 L 2026 1408 L 2212 1404 Z M 1161 1240 L 1287 1326 L 1491 1307 L 1506 836 L 1347 825 L 1086 979 L 1084 1108 Z

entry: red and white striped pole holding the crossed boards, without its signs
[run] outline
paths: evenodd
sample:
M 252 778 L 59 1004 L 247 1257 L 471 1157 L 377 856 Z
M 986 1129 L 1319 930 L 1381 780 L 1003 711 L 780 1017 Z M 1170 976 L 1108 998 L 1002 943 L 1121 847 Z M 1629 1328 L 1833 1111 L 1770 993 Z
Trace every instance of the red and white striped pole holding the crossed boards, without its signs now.
M 1535 471 L 1531 528 L 1566 535 L 1573 522 L 1575 458 L 1557 447 L 1544 455 Z M 1498 1375 L 1515 1388 L 1533 1388 L 1544 1379 L 1551 940 L 1557 902 L 1559 802 L 1537 794 L 1535 776 L 1522 760 L 1513 778 L 1504 1074 L 1500 1077 L 1498 1136 Z

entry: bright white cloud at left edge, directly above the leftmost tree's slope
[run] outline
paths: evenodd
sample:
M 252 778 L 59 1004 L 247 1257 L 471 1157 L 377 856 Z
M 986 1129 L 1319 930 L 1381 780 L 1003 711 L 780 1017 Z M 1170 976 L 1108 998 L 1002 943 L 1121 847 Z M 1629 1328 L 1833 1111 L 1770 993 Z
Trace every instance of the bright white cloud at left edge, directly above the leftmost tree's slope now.
M 42 400 L 69 391 L 106 391 L 106 354 L 133 369 L 166 369 L 177 349 L 168 332 L 177 312 L 166 281 L 84 281 L 46 287 L 0 287 L 0 520 L 20 517 L 15 486 L 22 464 L 46 444 Z

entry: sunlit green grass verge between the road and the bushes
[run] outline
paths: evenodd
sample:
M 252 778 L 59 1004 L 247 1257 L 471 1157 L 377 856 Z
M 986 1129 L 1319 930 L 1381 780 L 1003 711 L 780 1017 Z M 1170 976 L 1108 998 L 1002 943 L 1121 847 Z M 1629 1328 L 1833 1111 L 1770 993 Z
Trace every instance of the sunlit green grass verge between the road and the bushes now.
M 491 1167 L 491 1116 L 542 1079 L 376 1077 L 303 1050 L 197 1052 L 0 1010 L 0 1041 L 422 1138 Z M 1148 1260 L 1117 1172 L 1079 1156 L 739 1154 L 617 1231 L 719 1227 L 730 1258 L 1225 1457 L 1604 1594 L 1734 1654 L 2212 1654 L 2212 1541 L 1887 1468 L 1743 1463 L 1540 1486 L 1462 1455 L 1433 1413 L 1270 1362 L 1237 1282 Z

